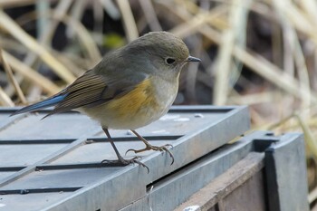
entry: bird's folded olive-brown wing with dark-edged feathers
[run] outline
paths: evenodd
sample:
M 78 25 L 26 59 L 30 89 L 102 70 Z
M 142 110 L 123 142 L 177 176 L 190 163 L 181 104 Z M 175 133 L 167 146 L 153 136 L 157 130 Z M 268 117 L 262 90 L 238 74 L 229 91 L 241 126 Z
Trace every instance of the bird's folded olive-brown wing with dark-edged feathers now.
M 64 99 L 49 115 L 106 103 L 129 93 L 139 82 L 146 79 L 145 74 L 133 74 L 133 79 L 129 76 L 112 79 L 107 78 L 107 75 L 96 74 L 92 71 L 86 72 L 62 91 Z

